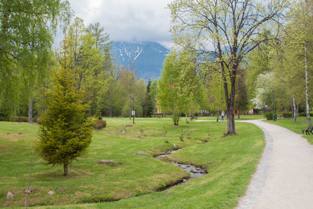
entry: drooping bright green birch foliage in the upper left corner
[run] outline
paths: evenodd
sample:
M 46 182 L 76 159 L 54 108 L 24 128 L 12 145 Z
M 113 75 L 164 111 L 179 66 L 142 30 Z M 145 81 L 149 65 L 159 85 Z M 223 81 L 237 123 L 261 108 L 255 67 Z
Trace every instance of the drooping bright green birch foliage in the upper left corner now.
M 46 72 L 57 26 L 63 29 L 72 12 L 61 0 L 1 0 L 0 5 L 0 103 L 10 100 L 5 101 L 8 120 L 20 95 L 28 101 L 28 87 Z

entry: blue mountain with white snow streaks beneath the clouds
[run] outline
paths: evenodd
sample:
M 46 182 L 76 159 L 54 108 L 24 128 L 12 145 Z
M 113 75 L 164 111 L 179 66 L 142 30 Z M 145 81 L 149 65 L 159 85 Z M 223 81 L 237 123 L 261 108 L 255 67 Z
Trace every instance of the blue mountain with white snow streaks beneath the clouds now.
M 157 42 L 114 42 L 112 44 L 112 54 L 120 65 L 131 68 L 134 64 L 137 79 L 143 78 L 148 81 L 158 79 L 161 74 L 162 64 L 165 55 L 170 53 L 170 47 Z

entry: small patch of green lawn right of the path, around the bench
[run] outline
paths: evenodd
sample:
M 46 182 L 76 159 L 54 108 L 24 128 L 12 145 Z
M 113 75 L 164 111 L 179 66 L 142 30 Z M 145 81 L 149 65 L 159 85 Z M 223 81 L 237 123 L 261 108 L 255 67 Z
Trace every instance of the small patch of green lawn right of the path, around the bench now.
M 293 118 L 289 118 L 289 119 L 282 118 L 276 121 L 272 121 L 272 120 L 264 120 L 264 121 L 282 126 L 298 134 L 302 134 L 302 129 L 307 129 L 309 127 L 308 120 L 305 117 L 296 118 L 296 122 L 293 121 Z M 303 137 L 306 138 L 310 142 L 310 144 L 313 144 L 313 135 L 303 135 Z

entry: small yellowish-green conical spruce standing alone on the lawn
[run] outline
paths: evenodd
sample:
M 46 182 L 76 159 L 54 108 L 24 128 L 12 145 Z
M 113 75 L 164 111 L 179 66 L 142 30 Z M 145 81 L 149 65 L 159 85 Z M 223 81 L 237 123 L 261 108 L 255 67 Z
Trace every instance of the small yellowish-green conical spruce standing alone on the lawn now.
M 87 105 L 82 104 L 82 93 L 73 85 L 68 47 L 64 41 L 62 54 L 57 56 L 60 68 L 54 72 L 54 89 L 47 94 L 47 112 L 42 115 L 36 148 L 45 165 L 63 164 L 65 176 L 69 175 L 68 165 L 86 152 L 92 137 L 85 118 Z

